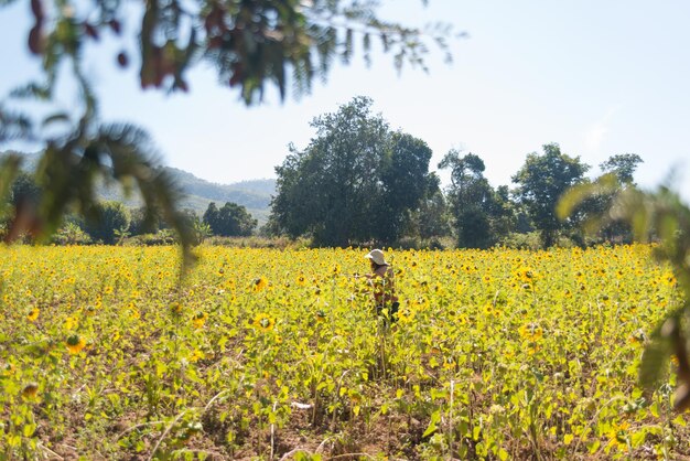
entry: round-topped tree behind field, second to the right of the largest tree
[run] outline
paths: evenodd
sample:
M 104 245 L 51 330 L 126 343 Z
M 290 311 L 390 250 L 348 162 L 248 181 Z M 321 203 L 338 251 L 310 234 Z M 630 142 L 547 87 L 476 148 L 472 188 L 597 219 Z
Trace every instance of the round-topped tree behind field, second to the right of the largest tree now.
M 533 225 L 541 233 L 541 243 L 550 247 L 557 234 L 572 222 L 560 221 L 556 205 L 563 193 L 583 180 L 589 165 L 580 157 L 561 153 L 557 143 L 545 144 L 543 154 L 529 153 L 525 164 L 513 176 L 518 184 L 516 196 L 525 205 Z

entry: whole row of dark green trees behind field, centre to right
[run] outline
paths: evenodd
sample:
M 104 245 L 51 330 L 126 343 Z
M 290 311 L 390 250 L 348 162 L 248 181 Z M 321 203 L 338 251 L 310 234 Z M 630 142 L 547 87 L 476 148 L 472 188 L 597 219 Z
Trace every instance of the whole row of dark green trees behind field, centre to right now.
M 429 171 L 432 151 L 411 135 L 391 130 L 371 112 L 371 99 L 355 97 L 333 114 L 314 118 L 316 136 L 303 150 L 276 168 L 277 194 L 268 232 L 309 237 L 316 246 L 396 245 L 401 238 L 432 243 L 453 237 L 461 248 L 488 248 L 537 233 L 541 246 L 565 237 L 584 245 L 581 225 L 607 210 L 617 192 L 634 186 L 642 158 L 612 156 L 602 174 L 617 179 L 617 190 L 583 201 L 567 219 L 557 216 L 561 196 L 591 182 L 590 165 L 561 152 L 557 143 L 532 152 L 513 178 L 513 187 L 493 187 L 485 164 L 475 153 L 449 151 L 439 169 L 450 170 L 451 184 L 441 189 Z M 629 226 L 611 223 L 601 239 L 626 242 Z M 515 242 L 513 242 L 515 244 Z

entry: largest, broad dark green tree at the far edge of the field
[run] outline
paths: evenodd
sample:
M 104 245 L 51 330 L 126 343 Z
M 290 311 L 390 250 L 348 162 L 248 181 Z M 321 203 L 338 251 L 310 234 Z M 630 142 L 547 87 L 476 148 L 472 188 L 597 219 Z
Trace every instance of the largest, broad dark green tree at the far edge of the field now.
M 370 107 L 369 98 L 356 97 L 337 112 L 314 118 L 316 137 L 303 151 L 292 147 L 276 169 L 273 227 L 325 246 L 392 243 L 402 234 L 433 184 L 431 150 L 391 132 Z

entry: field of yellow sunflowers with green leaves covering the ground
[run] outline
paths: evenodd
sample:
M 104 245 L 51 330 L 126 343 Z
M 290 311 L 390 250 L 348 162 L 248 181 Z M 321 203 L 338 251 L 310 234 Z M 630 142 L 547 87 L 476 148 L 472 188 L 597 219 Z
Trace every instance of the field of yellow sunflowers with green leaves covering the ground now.
M 649 246 L 0 248 L 0 459 L 679 459 Z

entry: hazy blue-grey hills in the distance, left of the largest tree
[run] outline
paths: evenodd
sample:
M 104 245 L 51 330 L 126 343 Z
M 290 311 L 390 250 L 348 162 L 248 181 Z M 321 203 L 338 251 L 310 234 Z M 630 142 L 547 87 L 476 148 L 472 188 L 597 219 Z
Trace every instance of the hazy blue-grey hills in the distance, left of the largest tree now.
M 3 153 L 0 153 L 0 158 L 2 156 Z M 37 153 L 26 153 L 24 154 L 23 168 L 31 171 L 35 169 L 37 161 Z M 197 178 L 188 171 L 172 167 L 163 168 L 186 193 L 186 197 L 180 203 L 182 208 L 194 210 L 201 216 L 211 202 L 215 202 L 218 207 L 223 206 L 225 202 L 234 202 L 245 206 L 259 221 L 259 225 L 268 221 L 271 195 L 276 194 L 276 180 L 262 179 L 218 184 Z M 125 197 L 123 191 L 118 184 L 100 185 L 98 195 L 103 200 L 123 202 L 131 207 L 141 205 L 141 201 L 136 194 L 129 199 Z

